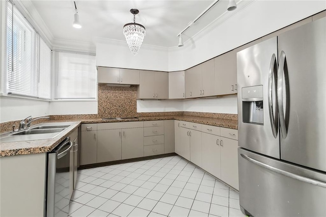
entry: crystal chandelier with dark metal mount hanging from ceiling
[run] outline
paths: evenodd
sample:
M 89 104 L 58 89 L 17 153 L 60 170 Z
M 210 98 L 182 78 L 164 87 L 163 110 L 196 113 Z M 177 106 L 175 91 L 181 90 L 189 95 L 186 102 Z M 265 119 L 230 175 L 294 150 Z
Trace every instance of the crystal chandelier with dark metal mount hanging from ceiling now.
M 135 22 L 135 15 L 139 13 L 139 10 L 131 9 L 130 13 L 133 14 L 133 22 L 127 23 L 123 26 L 123 34 L 126 37 L 131 52 L 133 55 L 137 55 L 137 52 L 143 43 L 146 30 L 144 25 Z

